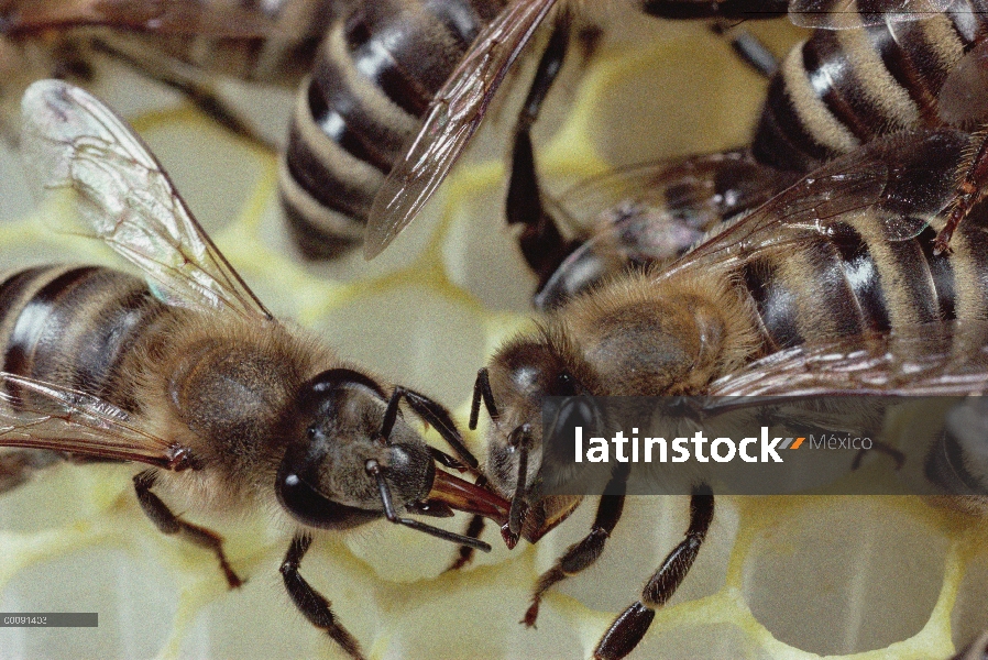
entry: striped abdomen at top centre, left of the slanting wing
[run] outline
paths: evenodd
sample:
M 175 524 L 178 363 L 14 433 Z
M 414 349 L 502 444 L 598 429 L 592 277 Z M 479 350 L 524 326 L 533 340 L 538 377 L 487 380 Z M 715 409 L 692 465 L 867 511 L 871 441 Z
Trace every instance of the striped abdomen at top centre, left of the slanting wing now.
M 281 197 L 303 253 L 363 239 L 371 202 L 501 0 L 363 2 L 329 31 L 298 95 Z

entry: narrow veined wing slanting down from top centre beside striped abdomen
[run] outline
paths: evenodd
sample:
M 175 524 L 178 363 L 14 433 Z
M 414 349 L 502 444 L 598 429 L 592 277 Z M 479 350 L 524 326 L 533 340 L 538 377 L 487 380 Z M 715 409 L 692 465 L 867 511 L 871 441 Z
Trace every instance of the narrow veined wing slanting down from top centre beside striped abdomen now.
M 512 2 L 476 37 L 436 95 L 418 135 L 374 198 L 364 256 L 373 258 L 411 221 L 480 125 L 505 74 L 556 0 Z

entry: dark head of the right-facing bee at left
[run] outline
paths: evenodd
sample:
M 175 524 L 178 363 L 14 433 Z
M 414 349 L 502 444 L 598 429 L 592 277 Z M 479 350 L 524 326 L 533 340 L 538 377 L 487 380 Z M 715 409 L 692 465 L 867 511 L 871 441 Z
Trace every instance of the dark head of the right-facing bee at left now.
M 277 473 L 278 502 L 312 527 L 348 528 L 383 515 L 369 464 L 385 475 L 396 506 L 429 493 L 435 464 L 428 446 L 372 378 L 349 370 L 325 371 L 303 385 L 290 439 Z

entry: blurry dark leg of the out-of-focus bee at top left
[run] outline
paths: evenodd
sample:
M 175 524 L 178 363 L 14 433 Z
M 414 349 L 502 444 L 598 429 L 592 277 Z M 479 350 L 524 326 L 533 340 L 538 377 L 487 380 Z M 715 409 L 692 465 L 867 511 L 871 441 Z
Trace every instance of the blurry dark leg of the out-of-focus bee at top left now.
M 141 74 L 162 85 L 182 92 L 189 102 L 206 117 L 223 127 L 238 138 L 243 138 L 267 151 L 278 151 L 278 146 L 265 140 L 251 128 L 251 122 L 223 102 L 220 96 L 206 82 L 202 74 L 180 62 L 167 57 L 155 56 L 149 50 L 141 52 L 123 51 L 103 40 L 94 40 L 94 46 Z

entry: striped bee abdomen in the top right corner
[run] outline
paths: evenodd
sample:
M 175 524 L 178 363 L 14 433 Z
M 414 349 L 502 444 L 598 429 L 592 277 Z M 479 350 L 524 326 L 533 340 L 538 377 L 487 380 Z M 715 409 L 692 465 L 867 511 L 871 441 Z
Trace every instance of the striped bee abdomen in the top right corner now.
M 814 31 L 769 85 L 755 157 L 808 172 L 879 135 L 943 125 L 938 94 L 986 36 L 982 4 L 968 0 L 923 21 Z

